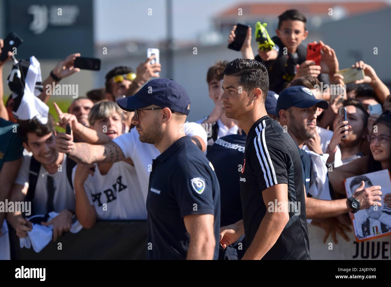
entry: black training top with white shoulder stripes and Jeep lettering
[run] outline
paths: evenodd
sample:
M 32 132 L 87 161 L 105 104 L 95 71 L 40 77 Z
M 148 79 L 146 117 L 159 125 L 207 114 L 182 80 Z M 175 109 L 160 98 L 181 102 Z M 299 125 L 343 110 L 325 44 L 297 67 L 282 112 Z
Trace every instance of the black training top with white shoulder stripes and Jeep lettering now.
M 296 209 L 289 209 L 287 225 L 262 259 L 310 259 L 298 147 L 283 127 L 269 116 L 258 119 L 249 130 L 239 181 L 246 247 L 251 245 L 269 209 L 262 192 L 276 184 L 288 184 L 288 206 L 296 205 Z

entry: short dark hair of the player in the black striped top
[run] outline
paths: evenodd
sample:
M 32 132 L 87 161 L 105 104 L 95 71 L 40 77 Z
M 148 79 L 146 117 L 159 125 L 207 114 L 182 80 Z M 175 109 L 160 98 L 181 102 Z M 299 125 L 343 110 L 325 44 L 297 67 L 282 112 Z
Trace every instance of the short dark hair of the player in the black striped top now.
M 265 102 L 269 91 L 269 75 L 264 64 L 256 60 L 235 59 L 229 62 L 224 70 L 225 75 L 239 77 L 239 85 L 243 86 L 246 92 L 260 88 Z

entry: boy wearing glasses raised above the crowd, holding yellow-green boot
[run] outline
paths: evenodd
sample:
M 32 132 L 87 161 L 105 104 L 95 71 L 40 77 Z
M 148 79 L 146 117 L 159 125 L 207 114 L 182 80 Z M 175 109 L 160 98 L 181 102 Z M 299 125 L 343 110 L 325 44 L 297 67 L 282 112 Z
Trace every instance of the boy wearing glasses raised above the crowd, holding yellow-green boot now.
M 338 70 L 338 61 L 334 50 L 322 41 L 319 43 L 322 45 L 323 54 L 327 55 L 327 57 L 322 57 L 322 61 L 325 62 L 328 69 L 325 67 L 325 70 L 321 71 L 321 66 L 315 65 L 314 61 L 306 61 L 307 47 L 301 44 L 308 36 L 306 22 L 304 14 L 296 9 L 283 12 L 278 16 L 277 36 L 272 38 L 276 46 L 269 51 L 258 50 L 258 55 L 255 58 L 251 48 L 251 28 L 248 29 L 241 49 L 242 57 L 243 59 L 255 59 L 266 66 L 270 79 L 269 89 L 277 94 L 294 78 L 305 75 L 318 77 L 321 72 L 332 76 Z M 231 31 L 228 42 L 233 41 L 234 37 L 235 27 Z M 325 84 L 329 82 L 324 75 L 319 80 Z

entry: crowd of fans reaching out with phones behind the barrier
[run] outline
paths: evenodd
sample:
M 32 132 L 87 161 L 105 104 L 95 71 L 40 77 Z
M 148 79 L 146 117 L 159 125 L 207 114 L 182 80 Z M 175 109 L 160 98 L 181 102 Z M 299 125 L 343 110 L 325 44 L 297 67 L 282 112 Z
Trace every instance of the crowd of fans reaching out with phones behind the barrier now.
M 351 223 L 345 211 L 344 179 L 391 168 L 390 92 L 375 70 L 363 61 L 352 63 L 352 67 L 362 68 L 364 79 L 345 86 L 343 77 L 337 74 L 339 64 L 335 51 L 322 41 L 319 41 L 322 45 L 320 66 L 305 59 L 289 60 L 300 49 L 306 50 L 301 44 L 308 35 L 306 19 L 300 12 L 289 10 L 280 15 L 279 20 L 273 41 L 280 50 L 259 50 L 254 57 L 249 28 L 241 49 L 242 58 L 255 59 L 266 66 L 271 90 L 265 101 L 267 113 L 300 148 L 308 222 L 325 229 L 325 241 L 329 234 L 336 241 L 336 233 L 347 240 L 346 231 L 351 229 Z M 228 42 L 235 38 L 235 28 Z M 287 47 L 288 60 L 283 47 Z M 39 95 L 43 102 L 50 99 L 45 89 L 47 83 L 58 83 L 79 71 L 73 66 L 79 56 L 69 55 L 52 70 Z M 57 123 L 51 115 L 46 124 L 36 118 L 17 123 L 12 114 L 12 97 L 3 105 L 0 83 L 0 201 L 24 201 L 27 197 L 32 201 L 32 214 L 57 212 L 56 217 L 42 223 L 53 225 L 54 241 L 68 232 L 76 219 L 84 228 L 93 228 L 97 220 L 146 219 L 148 178 L 152 159 L 159 152 L 138 140 L 132 119 L 142 116 L 142 111 L 125 112 L 115 100 L 134 95 L 151 78 L 158 77 L 156 73 L 161 71 L 161 66 L 151 64 L 153 57 L 141 63 L 136 71 L 127 66 L 108 71 L 104 88 L 93 89 L 86 97 L 75 99 L 67 111 L 61 111 L 55 104 Z M 0 78 L 3 64 L 0 62 Z M 226 117 L 220 100 L 226 64 L 226 61 L 218 61 L 206 73 L 208 91 L 203 92 L 213 100 L 212 112 L 199 115 L 199 121 L 186 123 L 184 127 L 184 132 L 215 167 L 221 186 L 222 226 L 241 219 L 239 181 L 230 176 L 228 170 L 234 170 L 233 174 L 239 176 L 238 166 L 242 164 L 246 143 L 246 135 L 237 121 Z M 321 82 L 339 85 L 341 93 L 335 94 L 330 89 L 321 91 L 317 88 Z M 328 109 L 283 106 L 283 97 L 287 96 L 284 90 L 294 86 L 305 87 L 316 98 L 327 101 Z M 384 112 L 370 116 L 369 106 L 375 104 L 381 104 Z M 339 114 L 341 107 L 346 108 L 347 121 Z M 15 123 L 17 133 L 12 131 Z M 71 135 L 56 132 L 56 125 L 65 128 L 67 123 L 72 128 Z M 144 132 L 144 136 L 154 136 L 153 129 Z M 104 156 L 109 159 L 102 160 L 108 144 L 111 144 L 110 154 Z M 319 169 L 325 169 L 325 177 L 319 178 L 316 173 Z M 362 204 L 363 209 L 373 205 L 369 193 L 362 186 L 357 188 L 357 198 L 362 203 L 367 202 Z M 391 197 L 385 196 L 382 204 L 390 205 Z M 26 237 L 32 229 L 22 212 L 0 213 L 0 227 L 5 219 L 20 238 Z M 235 244 L 231 248 L 235 255 L 230 255 L 229 249 L 221 250 L 226 253 L 221 258 L 240 258 L 244 253 L 244 250 L 240 253 Z

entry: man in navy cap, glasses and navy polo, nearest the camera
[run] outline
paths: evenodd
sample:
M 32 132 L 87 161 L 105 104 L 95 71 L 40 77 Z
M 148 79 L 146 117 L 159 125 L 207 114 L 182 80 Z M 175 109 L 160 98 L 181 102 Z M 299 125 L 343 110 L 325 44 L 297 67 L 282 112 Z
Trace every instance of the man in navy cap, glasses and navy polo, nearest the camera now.
M 212 164 L 181 132 L 190 109 L 185 89 L 174 80 L 151 80 L 117 103 L 135 111 L 138 139 L 160 152 L 152 166 L 145 164 L 151 168 L 146 208 L 152 248 L 147 258 L 217 259 L 220 187 Z

